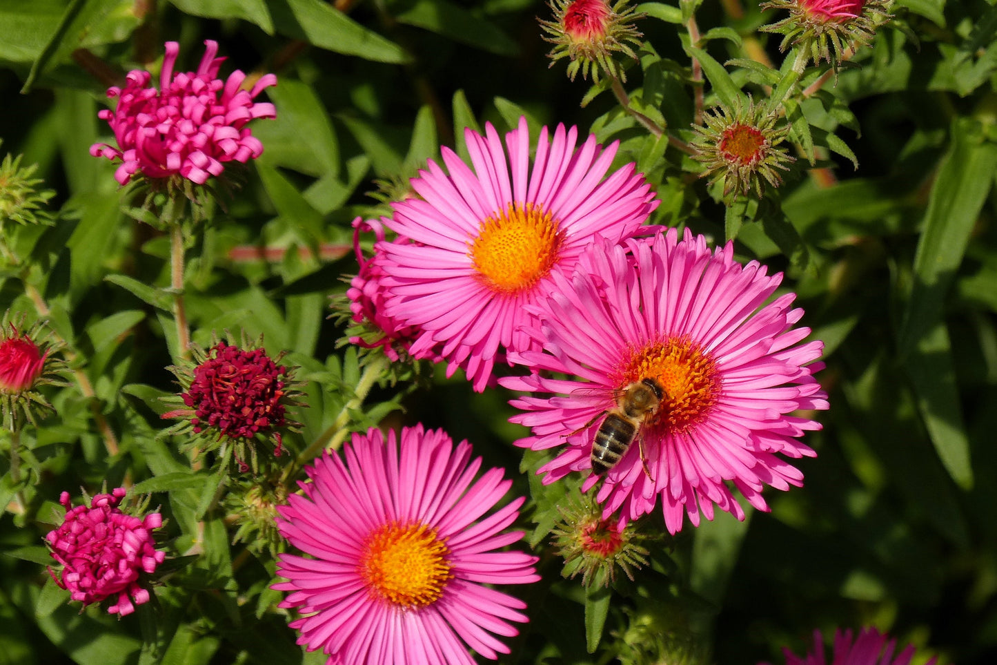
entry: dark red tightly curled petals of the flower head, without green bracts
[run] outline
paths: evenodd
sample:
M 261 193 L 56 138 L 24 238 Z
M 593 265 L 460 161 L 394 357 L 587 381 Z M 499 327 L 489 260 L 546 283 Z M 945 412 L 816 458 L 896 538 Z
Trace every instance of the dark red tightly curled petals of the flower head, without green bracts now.
M 252 438 L 285 424 L 287 367 L 277 365 L 262 348 L 243 350 L 219 341 L 193 370 L 183 403 L 194 409 L 194 432 L 216 428 L 221 436 Z

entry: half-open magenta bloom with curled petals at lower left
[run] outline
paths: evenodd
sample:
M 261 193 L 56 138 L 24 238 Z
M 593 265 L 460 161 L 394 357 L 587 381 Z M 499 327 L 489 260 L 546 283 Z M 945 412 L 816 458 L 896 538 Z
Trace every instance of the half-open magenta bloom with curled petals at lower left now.
M 66 516 L 59 528 L 45 536 L 52 557 L 63 566 L 59 576 L 49 568 L 56 584 L 69 589 L 73 600 L 84 605 L 117 595 L 108 612 L 121 616 L 149 601 L 149 590 L 139 584 L 139 575 L 154 572 L 166 558 L 156 549 L 152 534 L 163 525 L 163 516 L 158 512 L 144 519 L 126 515 L 118 508 L 125 494 L 125 488 L 118 487 L 95 496 L 89 508 L 72 508 L 69 492 L 63 492 L 59 502 Z

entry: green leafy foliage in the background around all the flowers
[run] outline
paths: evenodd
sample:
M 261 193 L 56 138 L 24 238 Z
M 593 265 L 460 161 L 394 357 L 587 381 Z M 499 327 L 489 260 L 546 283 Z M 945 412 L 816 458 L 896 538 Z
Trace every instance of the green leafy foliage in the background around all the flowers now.
M 694 7 L 640 9 L 647 45 L 626 63 L 626 88 L 634 108 L 688 140 L 696 84 L 682 12 Z M 780 90 L 786 56 L 757 32 L 773 12 L 736 0 L 695 11 L 701 33 L 720 29 L 699 42 L 708 106 Z M 535 17 L 549 10 L 534 0 L 0 0 L 3 150 L 38 165 L 58 212 L 52 227 L 5 227 L 33 267 L 0 273 L 0 310 L 34 313 L 25 285 L 37 288 L 96 391 L 52 389 L 59 416 L 25 434 L 28 509 L 0 517 L 0 663 L 324 662 L 302 654 L 274 611 L 272 560 L 230 544 L 223 512 L 205 514 L 220 478 L 191 475 L 175 441 L 156 438 L 158 397 L 174 390 L 165 367 L 175 339 L 157 301 L 168 238 L 123 212 L 114 166 L 88 153 L 109 139 L 97 118 L 108 85 L 135 67 L 158 72 L 166 40 L 180 42 L 177 70 L 192 70 L 204 39 L 220 42 L 224 73 L 272 71 L 279 84 L 268 91 L 277 119 L 253 126 L 262 158 L 188 249 L 194 339 L 244 329 L 290 351 L 310 405 L 292 451 L 343 413 L 365 429 L 391 412 L 444 426 L 510 469 L 515 491 L 532 498 L 524 524 L 544 581 L 521 590 L 531 622 L 504 662 L 654 662 L 642 649 L 677 629 L 705 635 L 710 662 L 781 662 L 780 647 L 801 653 L 814 628 L 868 623 L 925 647 L 915 662 L 928 646 L 944 662 L 997 660 L 997 8 L 898 0 L 891 11 L 893 26 L 824 92 L 787 107 L 799 152 L 786 183 L 725 204 L 605 83 L 571 83 L 563 63 L 548 69 Z M 760 53 L 775 69 L 747 63 Z M 826 70 L 808 70 L 800 87 Z M 382 381 L 361 407 L 352 398 L 370 365 L 337 346 L 343 331 L 327 319 L 340 276 L 356 271 L 350 221 L 385 210 L 368 195 L 373 181 L 415 175 L 440 145 L 466 155 L 464 127 L 502 131 L 521 114 L 533 133 L 563 122 L 621 141 L 616 166 L 636 161 L 657 188 L 653 222 L 733 239 L 740 258 L 786 271 L 804 324 L 826 343 L 831 410 L 807 436 L 819 456 L 799 462 L 805 486 L 768 493 L 771 514 L 743 524 L 721 514 L 661 538 L 634 582 L 599 598 L 558 576 L 546 531 L 566 489 L 539 485 L 534 455 L 517 473 L 511 441 L 524 432 L 506 420 L 510 395 L 473 394 L 460 373 L 438 372 L 414 390 Z M 239 258 L 264 248 L 286 252 Z M 104 450 L 94 405 L 120 438 L 117 456 Z M 175 550 L 199 537 L 202 554 L 176 563 L 155 607 L 123 621 L 78 613 L 46 583 L 55 500 L 128 474 L 163 502 Z M 16 489 L 8 472 L 0 503 Z

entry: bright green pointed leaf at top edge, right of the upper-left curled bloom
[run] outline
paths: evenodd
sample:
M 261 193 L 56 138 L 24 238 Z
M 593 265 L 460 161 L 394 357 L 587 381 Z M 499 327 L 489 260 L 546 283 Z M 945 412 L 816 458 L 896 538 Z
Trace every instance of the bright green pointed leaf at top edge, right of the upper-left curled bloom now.
M 287 37 L 375 62 L 401 65 L 412 60 L 402 47 L 322 0 L 272 0 L 269 8 L 276 31 Z

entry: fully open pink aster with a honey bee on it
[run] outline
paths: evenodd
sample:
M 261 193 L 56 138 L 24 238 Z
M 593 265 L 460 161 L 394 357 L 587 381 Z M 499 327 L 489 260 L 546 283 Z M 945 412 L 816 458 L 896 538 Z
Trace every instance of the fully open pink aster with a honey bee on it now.
M 683 513 L 694 525 L 700 511 L 712 519 L 714 504 L 743 519 L 728 481 L 768 510 L 765 485 L 803 484 L 779 455 L 815 455 L 798 439 L 821 425 L 793 413 L 828 408 L 813 376 L 824 366 L 823 343 L 800 343 L 810 329 L 794 328 L 803 316 L 792 309 L 795 296 L 769 302 L 782 275 L 735 262 L 730 244 L 711 253 L 702 236 L 687 230 L 679 241 L 672 229 L 624 245 L 597 244 L 585 271 L 557 276 L 544 307 L 531 308 L 540 323 L 524 333 L 543 349 L 509 358 L 579 378 L 499 379 L 516 390 L 568 395 L 513 400 L 524 413 L 511 420 L 532 429 L 516 443 L 563 447 L 539 469 L 545 483 L 592 469 L 594 460 L 583 489 L 604 478 L 603 515 L 621 510 L 621 523 L 650 512 L 658 496 L 672 533 Z M 641 403 L 623 398 L 641 390 Z M 623 418 L 634 425 L 631 436 L 618 419 L 610 429 L 631 444 L 593 454 L 596 433 L 606 433 L 604 420 L 622 413 L 621 404 L 631 408 Z

